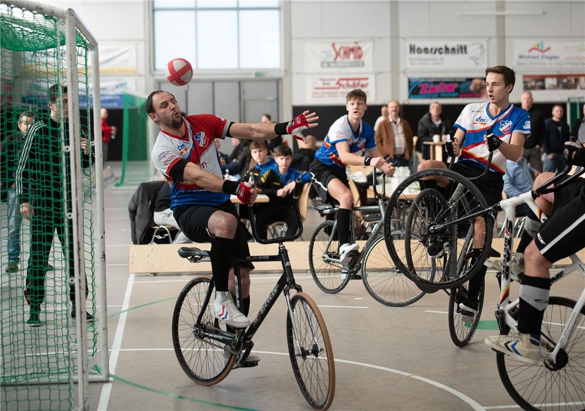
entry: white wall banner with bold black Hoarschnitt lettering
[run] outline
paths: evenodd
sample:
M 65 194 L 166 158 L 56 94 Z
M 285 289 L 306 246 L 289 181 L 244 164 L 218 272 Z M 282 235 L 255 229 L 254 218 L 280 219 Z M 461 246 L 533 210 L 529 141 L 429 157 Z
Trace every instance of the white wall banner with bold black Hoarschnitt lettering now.
M 486 42 L 407 40 L 406 68 L 486 68 Z

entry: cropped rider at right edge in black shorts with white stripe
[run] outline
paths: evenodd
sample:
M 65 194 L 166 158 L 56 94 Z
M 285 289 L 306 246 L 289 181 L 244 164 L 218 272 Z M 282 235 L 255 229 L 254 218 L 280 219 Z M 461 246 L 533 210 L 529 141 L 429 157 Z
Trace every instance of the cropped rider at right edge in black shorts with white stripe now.
M 569 165 L 585 166 L 585 148 L 581 143 L 567 141 L 563 156 Z M 536 177 L 533 188 L 553 177 L 554 173 L 543 172 Z M 486 344 L 494 350 L 529 364 L 538 364 L 540 359 L 541 324 L 550 292 L 550 266 L 585 247 L 585 179 L 577 178 L 559 191 L 539 196 L 535 202 L 550 218 L 525 250 L 518 334 L 486 338 Z

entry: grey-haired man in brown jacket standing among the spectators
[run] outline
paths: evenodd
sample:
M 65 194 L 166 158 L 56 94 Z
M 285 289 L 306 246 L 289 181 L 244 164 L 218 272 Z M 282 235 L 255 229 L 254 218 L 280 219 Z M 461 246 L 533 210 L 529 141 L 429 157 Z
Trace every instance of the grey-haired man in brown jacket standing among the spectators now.
M 400 103 L 396 100 L 388 102 L 388 119 L 381 122 L 376 130 L 376 146 L 394 167 L 408 167 L 412 158 L 412 130 L 407 120 L 400 118 Z

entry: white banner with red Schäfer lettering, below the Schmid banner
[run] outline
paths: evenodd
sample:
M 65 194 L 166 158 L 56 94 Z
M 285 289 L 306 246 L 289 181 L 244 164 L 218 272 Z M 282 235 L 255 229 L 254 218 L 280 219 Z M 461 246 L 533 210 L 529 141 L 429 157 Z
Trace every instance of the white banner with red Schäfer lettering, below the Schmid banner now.
M 361 88 L 368 101 L 376 101 L 373 74 L 307 76 L 306 83 L 307 103 L 310 104 L 345 104 L 345 96 L 355 88 Z

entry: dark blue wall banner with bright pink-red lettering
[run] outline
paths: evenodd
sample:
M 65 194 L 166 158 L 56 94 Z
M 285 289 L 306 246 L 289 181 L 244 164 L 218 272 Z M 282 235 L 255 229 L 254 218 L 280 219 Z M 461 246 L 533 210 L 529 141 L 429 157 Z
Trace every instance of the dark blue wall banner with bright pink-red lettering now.
M 485 98 L 484 78 L 409 78 L 408 98 Z

